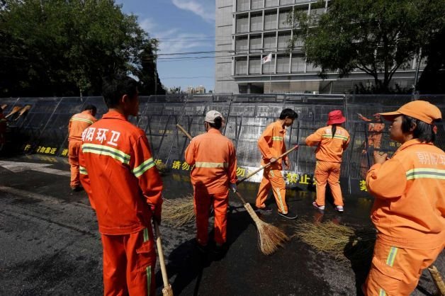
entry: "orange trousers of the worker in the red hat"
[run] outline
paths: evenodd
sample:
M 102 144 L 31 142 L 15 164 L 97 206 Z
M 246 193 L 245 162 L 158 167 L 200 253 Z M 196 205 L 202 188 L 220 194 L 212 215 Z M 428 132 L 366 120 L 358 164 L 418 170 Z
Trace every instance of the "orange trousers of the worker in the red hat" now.
M 329 183 L 335 205 L 343 206 L 342 188 L 340 188 L 340 164 L 317 160 L 315 166 L 315 188 L 317 189 L 317 205 L 325 205 L 326 183 Z

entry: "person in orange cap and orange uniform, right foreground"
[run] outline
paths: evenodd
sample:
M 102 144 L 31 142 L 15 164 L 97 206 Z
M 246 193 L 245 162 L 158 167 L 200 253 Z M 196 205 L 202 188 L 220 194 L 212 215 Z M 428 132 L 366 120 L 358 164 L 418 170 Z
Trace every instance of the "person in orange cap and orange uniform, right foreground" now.
M 445 153 L 433 144 L 441 112 L 412 101 L 381 115 L 392 121 L 390 138 L 402 145 L 391 159 L 374 152 L 366 176 L 378 236 L 364 292 L 410 295 L 445 246 Z

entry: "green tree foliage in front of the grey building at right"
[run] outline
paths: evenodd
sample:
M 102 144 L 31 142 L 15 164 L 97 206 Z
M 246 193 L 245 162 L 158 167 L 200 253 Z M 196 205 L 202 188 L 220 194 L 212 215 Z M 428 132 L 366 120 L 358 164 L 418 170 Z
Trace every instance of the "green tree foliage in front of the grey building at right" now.
M 325 1 L 315 6 L 325 7 Z M 320 76 L 338 71 L 343 77 L 359 69 L 373 76 L 377 91 L 386 92 L 395 72 L 444 28 L 445 0 L 332 0 L 327 13 L 294 10 L 287 23 L 294 31 L 289 49 L 303 39 L 307 61 L 321 68 Z

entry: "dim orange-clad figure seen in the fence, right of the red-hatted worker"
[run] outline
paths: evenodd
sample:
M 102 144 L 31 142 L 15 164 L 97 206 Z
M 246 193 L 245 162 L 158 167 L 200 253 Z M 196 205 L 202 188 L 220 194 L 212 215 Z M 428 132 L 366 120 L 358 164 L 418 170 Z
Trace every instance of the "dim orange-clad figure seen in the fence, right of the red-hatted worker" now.
M 361 115 L 360 113 L 359 119 L 366 121 L 368 124 L 368 147 L 366 147 L 366 143 L 364 143 L 364 149 L 361 151 L 362 157 L 360 161 L 360 175 L 362 178 L 366 177 L 366 173 L 368 172 L 369 166 L 368 165 L 368 158 L 371 158 L 372 155 L 371 152 L 373 150 L 379 150 L 381 148 L 381 142 L 382 142 L 382 134 L 383 130 L 385 130 L 385 123 L 382 122 L 380 114 L 376 113 L 373 114 L 374 120 L 368 119 L 364 117 L 364 115 Z M 371 154 L 368 154 L 368 151 L 370 151 Z

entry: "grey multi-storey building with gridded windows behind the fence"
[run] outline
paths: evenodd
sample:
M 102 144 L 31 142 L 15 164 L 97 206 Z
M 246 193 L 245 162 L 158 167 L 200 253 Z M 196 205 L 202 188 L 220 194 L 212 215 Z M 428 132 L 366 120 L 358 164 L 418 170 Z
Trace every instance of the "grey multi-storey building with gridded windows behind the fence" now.
M 360 71 L 339 79 L 337 73 L 322 80 L 319 69 L 305 62 L 301 42 L 286 52 L 293 37 L 286 24 L 293 9 L 310 15 L 325 13 L 311 8 L 317 0 L 216 0 L 215 93 L 344 93 L 355 84 L 369 86 L 373 77 Z M 271 62 L 261 59 L 272 54 Z M 423 66 L 423 65 L 422 65 Z M 414 84 L 416 61 L 393 76 L 400 88 Z M 421 67 L 422 69 L 422 67 Z

